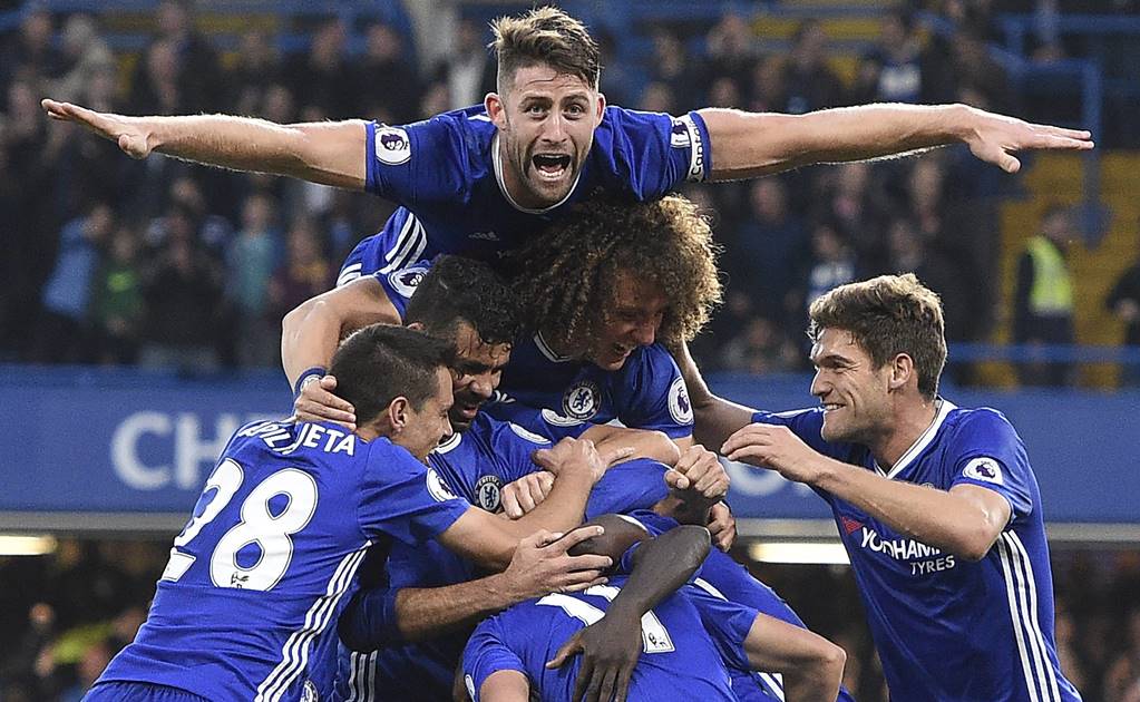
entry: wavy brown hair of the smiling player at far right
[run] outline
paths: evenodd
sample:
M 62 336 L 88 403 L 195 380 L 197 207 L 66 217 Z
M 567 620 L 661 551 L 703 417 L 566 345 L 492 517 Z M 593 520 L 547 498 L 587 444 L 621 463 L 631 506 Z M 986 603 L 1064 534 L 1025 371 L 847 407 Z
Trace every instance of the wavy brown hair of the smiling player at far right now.
M 848 283 L 825 293 L 807 311 L 807 335 L 819 341 L 823 329 L 848 332 L 881 368 L 905 353 L 914 361 L 919 392 L 938 393 L 946 364 L 946 333 L 938 294 L 914 274 L 879 276 Z

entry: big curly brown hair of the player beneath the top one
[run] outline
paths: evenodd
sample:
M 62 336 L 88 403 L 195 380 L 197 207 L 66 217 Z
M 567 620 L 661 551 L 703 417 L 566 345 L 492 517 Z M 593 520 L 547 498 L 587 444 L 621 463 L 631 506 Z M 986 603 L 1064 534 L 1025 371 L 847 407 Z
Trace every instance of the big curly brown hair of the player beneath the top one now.
M 610 319 L 618 275 L 634 274 L 668 297 L 657 335 L 671 346 L 691 341 L 720 302 L 716 253 L 708 220 L 681 195 L 642 203 L 595 199 L 577 205 L 518 254 L 514 288 L 528 327 L 578 348 Z

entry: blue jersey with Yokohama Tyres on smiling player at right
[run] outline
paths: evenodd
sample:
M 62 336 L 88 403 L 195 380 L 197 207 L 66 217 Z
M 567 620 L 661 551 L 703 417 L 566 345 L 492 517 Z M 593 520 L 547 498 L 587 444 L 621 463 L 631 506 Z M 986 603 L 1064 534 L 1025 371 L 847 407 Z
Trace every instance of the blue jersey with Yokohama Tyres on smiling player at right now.
M 815 450 L 890 480 L 939 490 L 978 485 L 1012 507 L 993 548 L 971 563 L 820 492 L 850 557 L 893 700 L 1081 699 L 1057 661 L 1037 482 L 1001 413 L 940 400 L 934 423 L 890 470 L 864 447 L 824 441 L 822 409 L 758 413 L 754 421 L 785 425 Z

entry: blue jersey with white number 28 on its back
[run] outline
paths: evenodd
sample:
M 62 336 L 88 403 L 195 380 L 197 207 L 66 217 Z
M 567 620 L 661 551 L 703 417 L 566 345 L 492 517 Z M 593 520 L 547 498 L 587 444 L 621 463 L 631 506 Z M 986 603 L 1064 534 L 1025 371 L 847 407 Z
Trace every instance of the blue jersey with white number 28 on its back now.
M 209 700 L 328 699 L 331 625 L 368 546 L 422 544 L 469 508 L 386 439 L 332 424 L 246 425 L 174 539 L 146 623 L 100 681 Z

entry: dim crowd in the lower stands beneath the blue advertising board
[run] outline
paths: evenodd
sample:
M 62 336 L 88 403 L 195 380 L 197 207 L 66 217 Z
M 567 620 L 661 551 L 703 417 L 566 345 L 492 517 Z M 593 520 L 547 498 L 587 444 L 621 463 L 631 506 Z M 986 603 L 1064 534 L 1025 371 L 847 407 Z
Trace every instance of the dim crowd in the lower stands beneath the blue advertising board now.
M 0 558 L 0 700 L 78 702 L 145 620 L 168 546 L 64 540 L 51 556 Z M 756 574 L 847 651 L 856 699 L 887 699 L 850 569 Z M 1085 700 L 1140 702 L 1140 554 L 1054 549 L 1053 574 L 1065 674 Z

